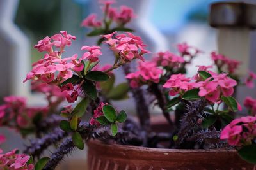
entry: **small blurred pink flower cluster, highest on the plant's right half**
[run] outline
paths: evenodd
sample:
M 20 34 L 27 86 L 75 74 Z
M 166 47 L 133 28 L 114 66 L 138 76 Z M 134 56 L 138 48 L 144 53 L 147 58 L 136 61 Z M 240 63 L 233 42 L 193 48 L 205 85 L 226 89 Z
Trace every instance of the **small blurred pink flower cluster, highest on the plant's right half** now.
M 177 44 L 177 49 L 180 53 L 180 55 L 188 55 L 190 57 L 194 57 L 198 53 L 202 53 L 200 50 L 193 46 L 189 46 L 187 43 L 179 43 Z

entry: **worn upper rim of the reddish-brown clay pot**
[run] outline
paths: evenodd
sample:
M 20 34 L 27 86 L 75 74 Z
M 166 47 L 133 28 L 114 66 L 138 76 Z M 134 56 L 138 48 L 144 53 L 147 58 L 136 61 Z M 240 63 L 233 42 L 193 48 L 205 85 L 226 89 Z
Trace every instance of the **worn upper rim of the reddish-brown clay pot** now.
M 99 141 L 97 139 L 92 139 L 88 141 L 88 143 L 93 143 L 93 145 L 104 145 L 105 147 L 112 148 L 113 146 L 116 146 L 118 150 L 129 150 L 129 151 L 136 151 L 136 152 L 161 152 L 161 153 L 236 153 L 235 149 L 198 149 L 198 150 L 192 150 L 192 149 L 167 149 L 167 148 L 148 148 L 148 147 L 142 147 L 142 146 L 132 146 L 132 145 L 120 145 L 116 143 L 104 143 L 102 141 Z M 90 145 L 90 144 L 89 144 Z

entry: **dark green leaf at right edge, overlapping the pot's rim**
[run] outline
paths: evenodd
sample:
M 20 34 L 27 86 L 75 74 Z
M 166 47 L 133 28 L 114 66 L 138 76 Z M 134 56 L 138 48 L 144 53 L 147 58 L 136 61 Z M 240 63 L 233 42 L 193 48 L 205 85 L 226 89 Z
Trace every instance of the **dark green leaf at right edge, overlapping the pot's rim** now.
M 256 164 L 256 144 L 243 146 L 238 150 L 238 154 L 246 162 Z

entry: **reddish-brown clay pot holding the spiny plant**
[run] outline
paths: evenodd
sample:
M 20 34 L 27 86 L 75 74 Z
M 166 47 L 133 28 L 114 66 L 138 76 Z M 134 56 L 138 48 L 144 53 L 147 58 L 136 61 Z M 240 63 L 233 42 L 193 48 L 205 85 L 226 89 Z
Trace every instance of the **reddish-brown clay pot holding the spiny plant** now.
M 236 150 L 170 150 L 88 143 L 89 170 L 255 170 Z

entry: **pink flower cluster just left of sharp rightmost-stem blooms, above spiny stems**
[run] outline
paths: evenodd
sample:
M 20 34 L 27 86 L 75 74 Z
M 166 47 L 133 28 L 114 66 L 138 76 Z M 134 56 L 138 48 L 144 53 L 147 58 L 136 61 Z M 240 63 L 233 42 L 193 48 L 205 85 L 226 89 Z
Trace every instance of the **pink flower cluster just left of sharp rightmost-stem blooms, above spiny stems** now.
M 200 87 L 202 82 L 191 82 L 191 78 L 186 78 L 184 74 L 173 74 L 169 80 L 164 83 L 163 87 L 171 88 L 170 96 L 184 94 L 184 92 Z

